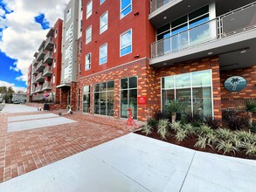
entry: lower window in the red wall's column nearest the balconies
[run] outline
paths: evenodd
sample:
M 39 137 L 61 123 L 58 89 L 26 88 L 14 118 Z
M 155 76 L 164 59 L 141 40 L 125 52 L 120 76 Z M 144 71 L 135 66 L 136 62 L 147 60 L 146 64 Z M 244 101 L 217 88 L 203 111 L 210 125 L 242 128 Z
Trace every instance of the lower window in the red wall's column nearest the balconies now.
M 120 55 L 124 56 L 132 52 L 132 30 L 121 34 Z

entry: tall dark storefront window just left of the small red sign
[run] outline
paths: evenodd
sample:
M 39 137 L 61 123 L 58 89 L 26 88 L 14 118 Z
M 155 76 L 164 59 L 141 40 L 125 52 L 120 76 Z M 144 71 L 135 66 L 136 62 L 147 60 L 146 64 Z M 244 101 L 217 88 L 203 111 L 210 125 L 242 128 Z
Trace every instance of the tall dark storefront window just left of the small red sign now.
M 121 118 L 128 118 L 127 108 L 131 108 L 137 120 L 137 77 L 121 79 Z

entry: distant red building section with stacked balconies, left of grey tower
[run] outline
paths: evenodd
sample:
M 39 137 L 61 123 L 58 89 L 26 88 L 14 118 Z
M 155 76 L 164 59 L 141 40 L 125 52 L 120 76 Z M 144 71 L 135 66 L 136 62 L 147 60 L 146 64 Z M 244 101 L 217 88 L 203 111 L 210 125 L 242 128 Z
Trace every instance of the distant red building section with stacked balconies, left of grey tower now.
M 28 77 L 30 79 L 31 74 L 31 88 L 28 86 L 30 101 L 59 103 L 56 86 L 59 85 L 61 72 L 62 23 L 61 19 L 57 20 L 34 53 Z

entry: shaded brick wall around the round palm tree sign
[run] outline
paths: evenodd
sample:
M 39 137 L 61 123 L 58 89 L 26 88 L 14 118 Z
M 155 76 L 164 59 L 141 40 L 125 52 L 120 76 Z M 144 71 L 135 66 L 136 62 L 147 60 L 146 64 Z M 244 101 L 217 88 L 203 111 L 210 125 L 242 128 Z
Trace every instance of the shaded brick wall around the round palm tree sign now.
M 224 87 L 225 79 L 231 76 L 241 76 L 246 79 L 247 86 L 240 92 L 229 92 Z M 220 73 L 222 108 L 245 110 L 246 99 L 256 99 L 256 65 L 244 69 Z

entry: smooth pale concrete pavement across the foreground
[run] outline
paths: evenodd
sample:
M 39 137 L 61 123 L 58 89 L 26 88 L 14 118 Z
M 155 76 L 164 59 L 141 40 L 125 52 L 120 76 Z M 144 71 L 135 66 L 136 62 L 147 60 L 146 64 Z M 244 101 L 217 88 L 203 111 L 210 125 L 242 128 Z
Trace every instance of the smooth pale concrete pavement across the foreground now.
M 254 192 L 256 161 L 127 134 L 0 184 L 0 191 Z

